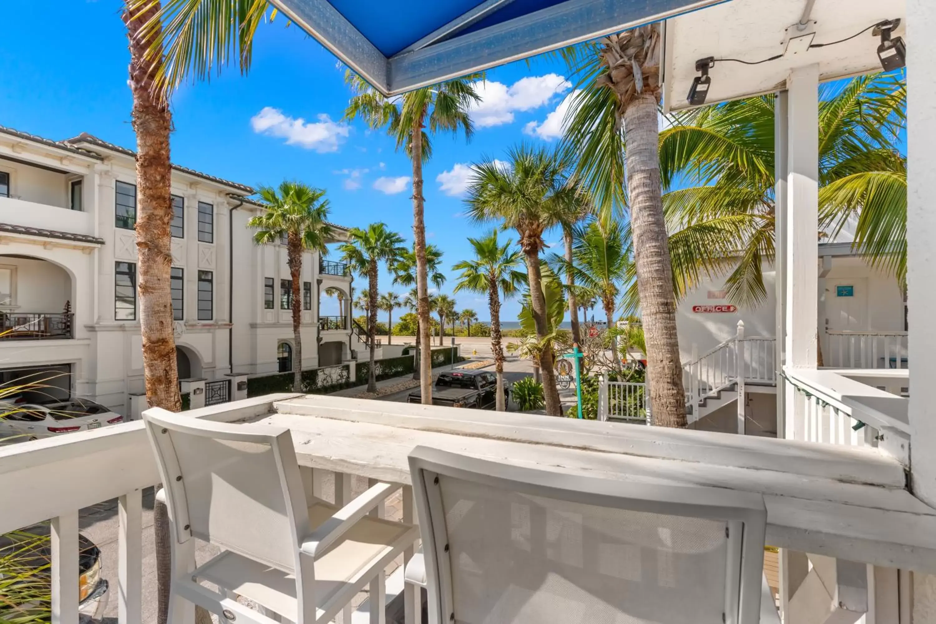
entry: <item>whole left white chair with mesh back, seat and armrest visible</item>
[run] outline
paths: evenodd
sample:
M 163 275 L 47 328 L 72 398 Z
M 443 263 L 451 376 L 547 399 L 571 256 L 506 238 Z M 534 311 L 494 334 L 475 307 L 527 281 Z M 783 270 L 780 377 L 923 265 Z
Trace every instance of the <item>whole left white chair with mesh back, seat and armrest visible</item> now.
M 191 621 L 186 601 L 222 622 L 328 622 L 417 538 L 411 525 L 368 515 L 400 486 L 377 484 L 342 509 L 306 501 L 288 429 L 159 409 L 143 420 L 167 491 L 173 624 Z M 194 538 L 225 550 L 195 568 Z

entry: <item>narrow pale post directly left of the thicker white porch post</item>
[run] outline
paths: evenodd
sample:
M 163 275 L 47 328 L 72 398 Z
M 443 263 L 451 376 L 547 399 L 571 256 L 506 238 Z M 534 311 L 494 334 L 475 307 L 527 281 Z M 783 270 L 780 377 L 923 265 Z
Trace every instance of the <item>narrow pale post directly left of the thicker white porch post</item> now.
M 774 102 L 773 152 L 774 152 L 774 260 L 776 271 L 774 287 L 777 293 L 777 313 L 774 338 L 776 348 L 775 366 L 777 370 L 777 437 L 786 435 L 784 416 L 786 415 L 786 381 L 780 372 L 786 362 L 786 159 L 787 159 L 787 93 L 780 91 Z

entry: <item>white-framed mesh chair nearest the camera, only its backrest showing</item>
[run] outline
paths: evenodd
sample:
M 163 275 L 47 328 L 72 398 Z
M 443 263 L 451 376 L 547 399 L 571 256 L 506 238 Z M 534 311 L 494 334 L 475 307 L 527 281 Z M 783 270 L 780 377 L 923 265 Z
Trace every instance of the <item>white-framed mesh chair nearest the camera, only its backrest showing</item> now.
M 423 553 L 406 578 L 430 624 L 761 621 L 761 495 L 425 447 L 409 461 Z

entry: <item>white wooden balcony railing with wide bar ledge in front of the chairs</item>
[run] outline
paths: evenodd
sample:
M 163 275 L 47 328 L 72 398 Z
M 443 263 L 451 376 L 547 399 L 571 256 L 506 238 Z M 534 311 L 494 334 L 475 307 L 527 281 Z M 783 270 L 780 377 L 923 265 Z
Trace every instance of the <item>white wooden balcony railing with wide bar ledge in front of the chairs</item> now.
M 288 428 L 308 493 L 338 504 L 353 500 L 368 480 L 402 485 L 402 497 L 388 501 L 383 512 L 389 518 L 414 517 L 407 455 L 424 445 L 561 473 L 754 492 L 763 495 L 767 507 L 767 544 L 847 559 L 840 567 L 863 570 L 874 564 L 936 572 L 936 510 L 914 498 L 903 466 L 879 447 L 842 449 L 533 414 L 417 410 L 403 403 L 327 396 L 271 395 L 188 414 Z M 116 561 L 104 571 L 113 602 L 107 615 L 112 610 L 122 623 L 152 621 L 141 614 L 143 597 L 154 603 L 156 590 L 148 543 L 152 529 L 142 519 L 141 492 L 158 481 L 141 422 L 0 448 L 0 500 L 18 501 L 0 510 L 0 533 L 54 520 L 51 582 L 61 615 L 53 621 L 77 621 L 79 583 L 75 567 L 56 568 L 55 561 L 76 552 L 80 510 L 111 500 L 119 508 L 119 522 L 114 521 L 118 539 L 105 546 Z M 144 552 L 151 554 L 144 559 Z M 841 589 L 847 581 L 853 584 L 849 591 L 870 591 L 859 587 L 857 577 L 841 574 Z M 386 591 L 388 602 L 403 590 L 399 568 L 376 582 L 383 587 L 372 586 L 371 595 Z M 377 621 L 367 619 L 369 610 L 368 602 L 356 601 L 344 608 L 343 621 L 350 623 L 352 612 L 353 621 Z M 664 604 L 660 617 L 665 621 Z M 411 611 L 406 622 L 416 621 Z

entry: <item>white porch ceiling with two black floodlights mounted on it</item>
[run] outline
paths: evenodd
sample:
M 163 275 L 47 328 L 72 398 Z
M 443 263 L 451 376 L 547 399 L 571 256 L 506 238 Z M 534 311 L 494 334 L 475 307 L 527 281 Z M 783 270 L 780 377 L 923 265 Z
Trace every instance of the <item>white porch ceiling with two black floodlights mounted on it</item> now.
M 687 109 L 686 94 L 698 73 L 695 61 L 707 56 L 760 61 L 785 50 L 788 26 L 799 22 L 808 0 L 733 0 L 666 21 L 665 94 L 668 110 Z M 811 20 L 802 35 L 814 31 L 812 43 L 838 41 L 876 22 L 899 18 L 894 31 L 904 36 L 904 0 L 815 0 Z M 787 52 L 760 65 L 716 63 L 709 69 L 711 86 L 707 104 L 763 94 L 782 87 L 790 70 L 819 64 L 820 80 L 834 80 L 881 69 L 878 36 L 869 30 L 834 46 Z

